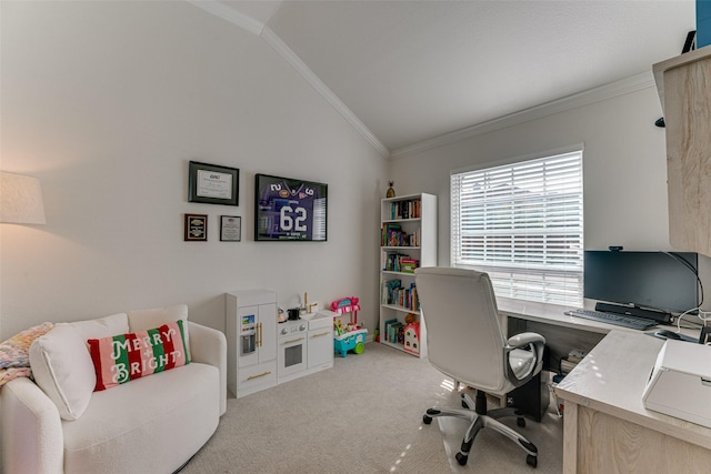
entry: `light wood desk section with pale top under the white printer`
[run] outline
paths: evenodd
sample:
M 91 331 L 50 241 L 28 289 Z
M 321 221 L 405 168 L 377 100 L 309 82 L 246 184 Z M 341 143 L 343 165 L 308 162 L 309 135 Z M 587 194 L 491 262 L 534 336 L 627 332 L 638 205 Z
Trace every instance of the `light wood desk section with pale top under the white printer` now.
M 613 330 L 558 385 L 563 473 L 701 473 L 711 430 L 642 404 L 663 341 Z

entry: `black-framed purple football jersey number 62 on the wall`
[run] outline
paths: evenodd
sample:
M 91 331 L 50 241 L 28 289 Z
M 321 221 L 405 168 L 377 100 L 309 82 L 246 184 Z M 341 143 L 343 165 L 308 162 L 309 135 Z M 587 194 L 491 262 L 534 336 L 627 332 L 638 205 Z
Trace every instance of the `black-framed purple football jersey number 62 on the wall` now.
M 328 184 L 257 174 L 256 241 L 326 241 Z

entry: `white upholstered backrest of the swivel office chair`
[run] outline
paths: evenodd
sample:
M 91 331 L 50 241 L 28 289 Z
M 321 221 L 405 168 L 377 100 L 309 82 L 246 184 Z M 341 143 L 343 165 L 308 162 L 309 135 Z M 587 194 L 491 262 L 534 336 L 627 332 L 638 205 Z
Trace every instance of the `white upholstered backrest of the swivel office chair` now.
M 415 285 L 430 363 L 459 382 L 485 392 L 501 390 L 505 340 L 489 275 L 421 268 L 415 271 Z

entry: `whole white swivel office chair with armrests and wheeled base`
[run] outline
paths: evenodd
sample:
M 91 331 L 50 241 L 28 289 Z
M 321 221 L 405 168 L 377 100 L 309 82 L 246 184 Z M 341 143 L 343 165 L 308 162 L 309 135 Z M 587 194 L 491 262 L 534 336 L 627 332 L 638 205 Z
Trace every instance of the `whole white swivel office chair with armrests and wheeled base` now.
M 519 415 L 514 409 L 487 412 L 487 393 L 505 396 L 535 376 L 543 365 L 545 340 L 535 333 L 510 339 L 499 325 L 497 300 L 487 273 L 450 268 L 415 271 L 415 285 L 427 325 L 430 363 L 459 383 L 477 390 L 477 401 L 462 394 L 462 409 L 432 407 L 422 417 L 457 416 L 471 422 L 457 461 L 465 465 L 474 437 L 489 427 L 515 442 L 527 452 L 525 462 L 538 465 L 538 448 L 515 431 L 497 421 Z M 519 415 L 518 426 L 525 426 Z

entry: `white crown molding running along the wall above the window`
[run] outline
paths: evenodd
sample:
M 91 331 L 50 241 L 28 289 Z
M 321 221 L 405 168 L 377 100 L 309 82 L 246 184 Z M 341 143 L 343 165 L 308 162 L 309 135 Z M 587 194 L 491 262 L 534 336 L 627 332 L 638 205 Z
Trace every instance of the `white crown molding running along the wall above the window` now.
M 567 110 L 577 109 L 583 105 L 589 105 L 594 102 L 624 95 L 650 87 L 655 87 L 654 78 L 651 71 L 643 72 L 617 82 L 601 85 L 599 88 L 590 89 L 561 99 L 557 99 L 551 102 L 543 103 L 541 105 L 535 105 L 530 109 L 514 112 L 499 119 L 489 120 L 487 122 L 478 123 L 475 125 L 457 130 L 454 132 L 444 133 L 421 141 L 419 143 L 399 148 L 390 153 L 390 158 L 405 158 L 415 153 L 431 150 L 437 147 L 467 140 L 477 135 L 493 132 L 495 130 L 501 130 L 507 127 L 518 125 L 531 120 L 541 119 L 554 113 L 564 112 Z

